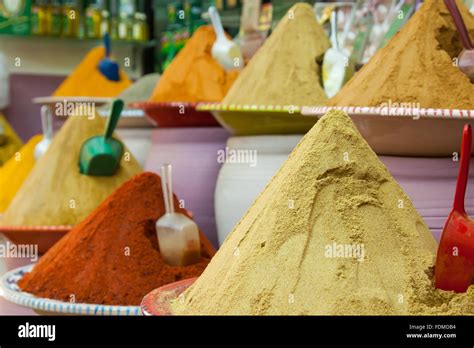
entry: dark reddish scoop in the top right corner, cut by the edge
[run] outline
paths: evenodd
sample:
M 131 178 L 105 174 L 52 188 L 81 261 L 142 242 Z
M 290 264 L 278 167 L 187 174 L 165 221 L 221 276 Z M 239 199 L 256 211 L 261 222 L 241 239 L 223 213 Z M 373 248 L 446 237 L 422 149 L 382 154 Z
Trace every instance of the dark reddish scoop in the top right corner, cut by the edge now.
M 456 29 L 458 30 L 459 37 L 461 38 L 464 47 L 458 56 L 458 67 L 463 73 L 469 76 L 471 82 L 474 83 L 474 47 L 472 46 L 469 32 L 467 31 L 461 13 L 456 5 L 456 1 L 444 0 L 444 3 L 448 8 L 449 13 L 451 13 L 451 17 L 453 17 L 454 24 L 456 25 Z

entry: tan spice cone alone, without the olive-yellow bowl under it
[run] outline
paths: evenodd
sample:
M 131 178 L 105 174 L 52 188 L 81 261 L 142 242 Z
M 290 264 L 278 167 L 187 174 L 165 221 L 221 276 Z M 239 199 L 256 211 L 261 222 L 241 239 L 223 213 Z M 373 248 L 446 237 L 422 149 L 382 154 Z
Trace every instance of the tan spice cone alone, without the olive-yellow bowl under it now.
M 294 5 L 235 81 L 224 104 L 322 105 L 321 61 L 330 47 L 309 4 Z

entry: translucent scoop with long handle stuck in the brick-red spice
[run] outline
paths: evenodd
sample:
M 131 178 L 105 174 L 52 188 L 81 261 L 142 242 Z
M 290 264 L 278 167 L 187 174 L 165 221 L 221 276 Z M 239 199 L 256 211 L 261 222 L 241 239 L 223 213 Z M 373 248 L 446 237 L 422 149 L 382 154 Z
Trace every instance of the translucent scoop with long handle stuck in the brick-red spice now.
M 201 259 L 199 229 L 194 221 L 174 211 L 171 164 L 161 167 L 161 185 L 166 209 L 156 222 L 161 256 L 172 266 L 197 263 Z

